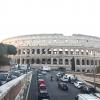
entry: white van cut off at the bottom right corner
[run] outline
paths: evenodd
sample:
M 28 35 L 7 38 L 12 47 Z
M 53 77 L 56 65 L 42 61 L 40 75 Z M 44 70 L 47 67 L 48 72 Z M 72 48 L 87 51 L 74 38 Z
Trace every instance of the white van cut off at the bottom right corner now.
M 92 94 L 79 94 L 75 97 L 75 100 L 100 100 Z

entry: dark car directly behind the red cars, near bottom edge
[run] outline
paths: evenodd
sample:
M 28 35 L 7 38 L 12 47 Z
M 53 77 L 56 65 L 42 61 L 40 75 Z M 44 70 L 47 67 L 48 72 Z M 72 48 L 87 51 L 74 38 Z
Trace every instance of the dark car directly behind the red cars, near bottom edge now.
M 47 90 L 39 91 L 38 100 L 50 100 L 50 96 L 49 96 Z

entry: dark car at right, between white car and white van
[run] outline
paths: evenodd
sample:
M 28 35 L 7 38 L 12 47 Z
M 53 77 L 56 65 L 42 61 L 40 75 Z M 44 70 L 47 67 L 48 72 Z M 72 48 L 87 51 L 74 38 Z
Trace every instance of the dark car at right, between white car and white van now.
M 95 89 L 94 89 L 92 86 L 89 86 L 89 85 L 83 85 L 83 86 L 80 88 L 80 91 L 81 91 L 82 93 L 87 93 L 87 94 L 95 93 Z

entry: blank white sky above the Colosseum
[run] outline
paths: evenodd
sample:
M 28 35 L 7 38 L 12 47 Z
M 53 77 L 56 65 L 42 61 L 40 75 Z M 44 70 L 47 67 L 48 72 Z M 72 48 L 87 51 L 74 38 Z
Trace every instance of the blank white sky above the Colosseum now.
M 100 0 L 0 0 L 0 41 L 42 33 L 100 37 Z

